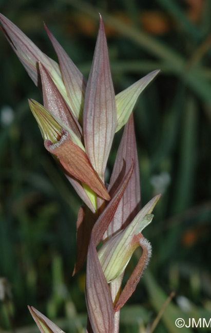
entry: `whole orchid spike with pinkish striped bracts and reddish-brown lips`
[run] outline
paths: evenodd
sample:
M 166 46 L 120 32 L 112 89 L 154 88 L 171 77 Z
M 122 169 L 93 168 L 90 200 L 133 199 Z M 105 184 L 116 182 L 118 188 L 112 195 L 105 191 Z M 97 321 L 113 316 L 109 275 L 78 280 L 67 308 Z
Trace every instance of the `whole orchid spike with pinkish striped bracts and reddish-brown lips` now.
M 29 100 L 44 145 L 84 201 L 78 214 L 78 254 L 73 275 L 87 257 L 88 333 L 118 333 L 120 308 L 136 289 L 150 255 L 142 230 L 152 220 L 159 195 L 140 210 L 139 162 L 132 110 L 159 70 L 114 94 L 103 19 L 88 81 L 45 25 L 59 64 L 45 55 L 9 19 L 0 14 L 2 31 L 36 86 L 43 104 Z M 114 134 L 125 125 L 106 188 L 105 169 Z M 103 241 L 97 252 L 96 247 Z M 121 292 L 133 252 L 142 256 Z M 29 310 L 42 333 L 62 333 L 33 307 Z

